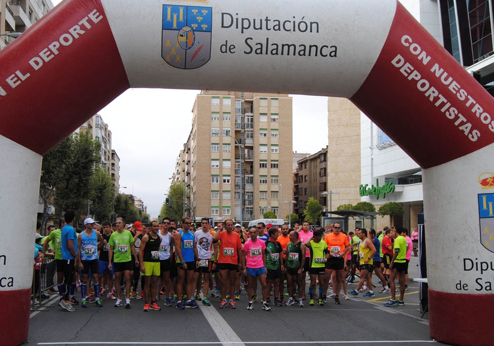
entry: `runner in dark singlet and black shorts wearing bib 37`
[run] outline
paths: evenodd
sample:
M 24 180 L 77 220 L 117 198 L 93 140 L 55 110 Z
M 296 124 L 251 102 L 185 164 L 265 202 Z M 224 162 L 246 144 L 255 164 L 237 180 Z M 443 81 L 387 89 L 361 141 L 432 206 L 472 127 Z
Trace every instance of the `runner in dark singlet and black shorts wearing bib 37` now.
M 290 232 L 290 242 L 287 245 L 287 257 L 285 259 L 285 267 L 287 268 L 287 288 L 288 288 L 288 302 L 287 306 L 295 303 L 294 293 L 295 285 L 302 286 L 302 270 L 305 262 L 305 244 L 298 238 L 299 233 L 297 231 Z M 304 303 L 302 296 L 298 295 L 298 306 L 303 307 Z

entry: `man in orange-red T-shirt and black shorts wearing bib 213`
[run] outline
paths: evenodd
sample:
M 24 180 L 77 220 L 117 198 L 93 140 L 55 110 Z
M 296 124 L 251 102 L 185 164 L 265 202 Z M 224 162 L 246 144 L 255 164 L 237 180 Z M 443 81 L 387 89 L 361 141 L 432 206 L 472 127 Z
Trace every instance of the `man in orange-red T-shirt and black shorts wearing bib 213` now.
M 227 306 L 227 292 L 235 292 L 235 276 L 238 270 L 242 269 L 242 243 L 240 236 L 233 231 L 233 220 L 225 220 L 225 230 L 218 230 L 214 233 L 213 241 L 219 242 L 219 256 L 213 263 L 213 269 L 217 266 L 220 274 L 220 290 L 223 298 L 220 303 L 220 308 Z M 216 258 L 216 256 L 215 256 Z M 232 309 L 236 308 L 235 302 L 230 299 L 228 303 Z

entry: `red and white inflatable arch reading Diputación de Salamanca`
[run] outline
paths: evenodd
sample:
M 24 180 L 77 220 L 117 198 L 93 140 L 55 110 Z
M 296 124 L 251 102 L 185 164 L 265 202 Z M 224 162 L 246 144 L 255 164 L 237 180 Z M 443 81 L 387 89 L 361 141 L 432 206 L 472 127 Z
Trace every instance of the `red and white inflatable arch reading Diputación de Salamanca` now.
M 65 0 L 0 52 L 1 345 L 28 335 L 42 155 L 129 87 L 351 99 L 424 169 L 431 336 L 492 344 L 493 99 L 400 3 Z

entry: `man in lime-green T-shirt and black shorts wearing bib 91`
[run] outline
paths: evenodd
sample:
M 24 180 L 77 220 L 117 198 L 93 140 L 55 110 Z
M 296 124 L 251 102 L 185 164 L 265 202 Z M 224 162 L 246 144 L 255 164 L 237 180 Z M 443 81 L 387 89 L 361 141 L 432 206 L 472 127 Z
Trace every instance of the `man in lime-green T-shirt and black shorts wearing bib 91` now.
M 124 229 L 124 219 L 118 217 L 115 220 L 115 225 L 117 230 L 110 236 L 110 249 L 108 249 L 108 269 L 112 270 L 113 265 L 115 265 L 115 281 L 117 289 L 117 301 L 115 302 L 115 307 L 122 306 L 122 289 L 120 283 L 122 282 L 122 273 L 125 277 L 125 307 L 131 308 L 130 306 L 130 284 L 132 280 L 132 256 L 135 258 L 135 265 L 139 266 L 139 259 L 134 248 L 134 237 L 130 231 Z M 115 257 L 114 257 L 115 254 Z M 113 259 L 113 261 L 112 261 Z M 113 263 L 113 264 L 112 264 Z

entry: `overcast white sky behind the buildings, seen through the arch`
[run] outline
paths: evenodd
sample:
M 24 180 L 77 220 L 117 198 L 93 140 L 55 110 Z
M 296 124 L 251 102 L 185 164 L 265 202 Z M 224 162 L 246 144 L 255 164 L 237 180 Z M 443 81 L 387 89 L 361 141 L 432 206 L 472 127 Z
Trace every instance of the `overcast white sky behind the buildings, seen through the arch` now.
M 151 217 L 160 213 L 199 92 L 129 89 L 98 112 L 112 131 L 112 148 L 120 157 L 120 186 L 126 186 L 120 192 L 141 198 Z M 313 154 L 328 145 L 327 97 L 291 96 L 293 150 Z

